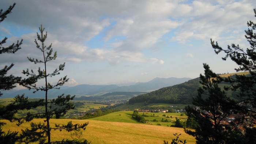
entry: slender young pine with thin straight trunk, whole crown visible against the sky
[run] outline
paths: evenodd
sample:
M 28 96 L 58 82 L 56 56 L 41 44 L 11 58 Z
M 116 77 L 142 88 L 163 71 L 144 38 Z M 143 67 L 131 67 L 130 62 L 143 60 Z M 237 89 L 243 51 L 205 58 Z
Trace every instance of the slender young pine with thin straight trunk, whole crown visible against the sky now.
M 67 76 L 62 77 L 61 79 L 58 80 L 58 82 L 56 84 L 50 84 L 48 82 L 49 77 L 59 75 L 60 71 L 64 70 L 65 63 L 60 64 L 59 68 L 55 69 L 52 73 L 48 73 L 47 64 L 48 64 L 48 62 L 56 59 L 57 53 L 55 52 L 53 54 L 52 44 L 50 44 L 48 47 L 45 46 L 47 32 L 44 34 L 44 28 L 42 27 L 42 25 L 41 25 L 41 27 L 39 27 L 39 31 L 40 31 L 40 33 L 39 34 L 37 33 L 37 39 L 40 42 L 40 44 L 38 43 L 38 41 L 36 39 L 35 39 L 35 44 L 36 44 L 36 47 L 42 52 L 42 60 L 37 59 L 37 58 L 36 59 L 29 58 L 29 57 L 28 57 L 28 59 L 29 59 L 29 61 L 33 62 L 34 64 L 42 64 L 44 68 L 41 69 L 39 67 L 37 74 L 34 73 L 33 70 L 29 71 L 29 69 L 27 69 L 26 71 L 23 71 L 23 74 L 25 74 L 26 76 L 29 76 L 29 78 L 31 78 L 31 79 L 37 79 L 37 80 L 44 79 L 45 85 L 40 87 L 40 86 L 37 86 L 36 84 L 23 84 L 23 86 L 27 87 L 29 90 L 34 90 L 33 92 L 37 92 L 39 90 L 45 91 L 45 99 L 41 103 L 41 105 L 44 105 L 45 111 L 42 113 L 36 113 L 36 114 L 27 113 L 27 117 L 25 117 L 23 119 L 19 119 L 19 122 L 21 123 L 24 120 L 30 121 L 34 117 L 45 117 L 46 125 L 41 124 L 41 123 L 39 123 L 39 124 L 31 123 L 31 129 L 23 130 L 22 135 L 20 136 L 20 138 L 21 138 L 20 142 L 44 143 L 46 140 L 46 136 L 47 136 L 48 144 L 50 144 L 50 143 L 55 143 L 55 142 L 51 141 L 50 131 L 52 129 L 53 130 L 65 129 L 68 132 L 70 132 L 72 130 L 77 130 L 80 128 L 85 130 L 86 126 L 88 125 L 88 122 L 84 123 L 82 125 L 79 125 L 79 124 L 73 125 L 72 122 L 70 121 L 70 122 L 68 122 L 67 125 L 60 126 L 58 124 L 55 124 L 54 128 L 52 128 L 50 126 L 50 122 L 49 122 L 50 118 L 52 118 L 52 117 L 60 118 L 61 116 L 64 116 L 68 110 L 75 108 L 74 104 L 69 102 L 75 96 L 70 96 L 70 95 L 64 96 L 64 94 L 62 94 L 62 95 L 59 95 L 56 99 L 48 99 L 48 91 L 51 89 L 59 89 L 59 86 L 63 86 L 63 84 L 68 81 L 68 78 L 67 78 Z M 61 141 L 61 143 L 64 143 L 64 142 L 65 142 L 64 140 Z M 66 142 L 73 143 L 74 141 L 72 142 L 70 140 L 66 140 Z M 76 141 L 76 143 L 78 143 L 78 142 Z M 87 143 L 87 140 L 84 140 L 83 143 Z

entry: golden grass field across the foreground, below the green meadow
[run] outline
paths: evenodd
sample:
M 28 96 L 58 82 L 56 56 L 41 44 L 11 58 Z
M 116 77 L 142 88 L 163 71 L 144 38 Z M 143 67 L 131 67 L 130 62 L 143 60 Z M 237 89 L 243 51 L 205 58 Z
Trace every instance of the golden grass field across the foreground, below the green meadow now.
M 44 119 L 34 119 L 32 122 L 44 122 Z M 50 125 L 67 124 L 69 119 L 51 119 Z M 21 132 L 21 129 L 28 128 L 30 122 L 25 122 L 21 126 L 16 126 L 16 123 L 7 120 L 7 125 L 3 126 L 3 131 Z M 163 144 L 163 140 L 171 142 L 174 139 L 173 133 L 181 133 L 181 140 L 187 139 L 188 144 L 195 143 L 192 136 L 186 134 L 183 128 L 174 128 L 167 126 L 157 126 L 148 124 L 134 124 L 126 122 L 108 122 L 97 120 L 72 120 L 75 123 L 89 122 L 86 130 L 83 131 L 82 138 L 91 141 L 91 144 Z M 71 139 L 69 132 L 59 130 L 51 131 L 51 139 L 62 140 Z

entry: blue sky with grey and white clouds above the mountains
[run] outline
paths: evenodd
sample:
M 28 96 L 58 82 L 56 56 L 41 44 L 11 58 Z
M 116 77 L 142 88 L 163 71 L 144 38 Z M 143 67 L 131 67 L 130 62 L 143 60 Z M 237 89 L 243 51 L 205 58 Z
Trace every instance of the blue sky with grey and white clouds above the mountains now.
M 255 0 L 1 0 L 0 9 L 16 3 L 0 23 L 3 46 L 23 39 L 15 54 L 1 54 L 0 68 L 14 63 L 8 74 L 22 76 L 42 59 L 34 39 L 45 27 L 46 45 L 57 58 L 47 64 L 52 72 L 65 62 L 60 75 L 65 86 L 79 84 L 129 86 L 155 77 L 199 77 L 207 63 L 215 73 L 234 73 L 238 66 L 222 61 L 210 39 L 222 48 L 231 43 L 248 48 L 244 30 L 255 22 Z M 39 85 L 43 82 L 39 81 Z M 21 87 L 18 87 L 21 88 Z

